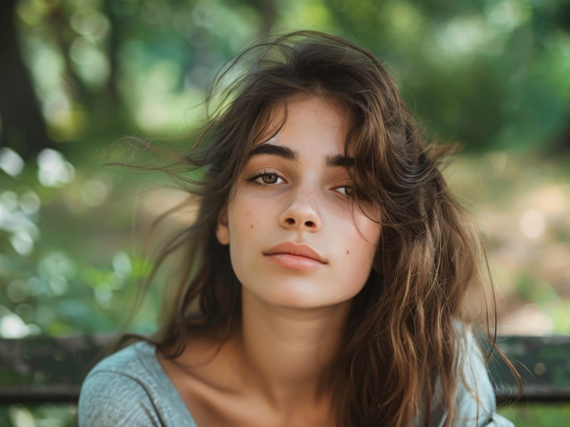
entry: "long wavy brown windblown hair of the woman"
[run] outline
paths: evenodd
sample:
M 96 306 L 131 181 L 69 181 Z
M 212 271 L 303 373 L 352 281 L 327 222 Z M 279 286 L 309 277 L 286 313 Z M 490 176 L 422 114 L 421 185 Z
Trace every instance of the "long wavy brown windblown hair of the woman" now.
M 422 413 L 427 425 L 440 393 L 450 426 L 467 330 L 458 324 L 471 323 L 465 315 L 471 290 L 487 301 L 487 331 L 494 319 L 480 237 L 440 172 L 450 147 L 427 147 L 380 61 L 335 36 L 276 36 L 227 63 L 209 92 L 209 105 L 217 107 L 190 153 L 160 168 L 191 194 L 198 211 L 156 259 L 155 270 L 173 253 L 185 262 L 155 342 L 177 357 L 192 333 L 207 330 L 224 342 L 239 327 L 241 285 L 228 247 L 215 236 L 218 215 L 271 110 L 298 94 L 333 100 L 346 112 L 355 203 L 373 206 L 382 226 L 370 277 L 353 299 L 342 348 L 326 373 L 338 424 L 407 426 Z M 180 173 L 188 169 L 193 178 Z

